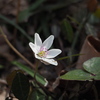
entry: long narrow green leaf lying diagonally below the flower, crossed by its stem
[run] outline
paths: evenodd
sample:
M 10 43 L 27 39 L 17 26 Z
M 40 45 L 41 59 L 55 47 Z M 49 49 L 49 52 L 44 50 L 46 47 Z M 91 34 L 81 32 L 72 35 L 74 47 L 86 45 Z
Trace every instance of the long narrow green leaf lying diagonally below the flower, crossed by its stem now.
M 12 62 L 12 64 L 18 66 L 23 71 L 27 72 L 30 76 L 34 77 L 35 72 L 32 69 L 30 69 L 29 67 L 27 67 L 27 66 L 25 66 L 25 65 L 23 65 L 23 64 L 21 64 L 21 63 L 19 63 L 17 61 Z M 47 81 L 45 80 L 45 78 L 43 76 L 41 76 L 40 74 L 37 73 L 35 78 L 39 83 L 41 83 L 42 85 L 46 86 Z

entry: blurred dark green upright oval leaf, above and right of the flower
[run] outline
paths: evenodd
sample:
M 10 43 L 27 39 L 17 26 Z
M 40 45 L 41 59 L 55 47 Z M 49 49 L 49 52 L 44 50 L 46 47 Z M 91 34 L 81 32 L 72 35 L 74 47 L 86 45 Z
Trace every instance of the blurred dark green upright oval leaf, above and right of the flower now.
M 62 31 L 66 35 L 67 40 L 71 43 L 74 38 L 74 32 L 70 22 L 67 19 L 62 21 Z

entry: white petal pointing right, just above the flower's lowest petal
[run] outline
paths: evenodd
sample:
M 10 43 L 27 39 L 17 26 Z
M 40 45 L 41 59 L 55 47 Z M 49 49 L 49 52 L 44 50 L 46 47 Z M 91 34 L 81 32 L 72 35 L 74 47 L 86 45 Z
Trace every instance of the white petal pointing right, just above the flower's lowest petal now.
M 59 55 L 62 51 L 60 49 L 51 49 L 47 51 L 46 58 L 54 58 Z

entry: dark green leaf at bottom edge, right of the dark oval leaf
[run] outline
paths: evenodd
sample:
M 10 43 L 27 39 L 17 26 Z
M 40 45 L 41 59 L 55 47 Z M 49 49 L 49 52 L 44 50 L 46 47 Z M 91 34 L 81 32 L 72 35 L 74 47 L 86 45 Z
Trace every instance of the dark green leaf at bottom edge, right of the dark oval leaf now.
M 46 98 L 39 90 L 33 90 L 29 100 L 46 100 Z

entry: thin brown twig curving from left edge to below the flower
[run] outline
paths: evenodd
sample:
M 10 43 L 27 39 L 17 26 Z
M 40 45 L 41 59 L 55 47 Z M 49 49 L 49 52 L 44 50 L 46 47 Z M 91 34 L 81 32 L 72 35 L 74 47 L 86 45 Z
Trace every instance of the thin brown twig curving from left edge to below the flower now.
M 21 53 L 19 53 L 19 51 L 17 51 L 17 49 L 14 48 L 14 46 L 9 42 L 9 40 L 7 39 L 7 36 L 4 34 L 2 28 L 0 27 L 0 31 L 6 41 L 6 43 L 10 46 L 10 48 L 18 55 L 20 56 L 24 61 L 26 61 L 32 68 L 35 69 L 35 66 L 29 61 L 27 60 Z

